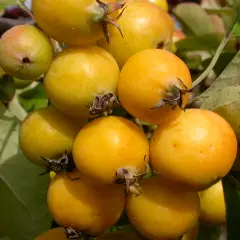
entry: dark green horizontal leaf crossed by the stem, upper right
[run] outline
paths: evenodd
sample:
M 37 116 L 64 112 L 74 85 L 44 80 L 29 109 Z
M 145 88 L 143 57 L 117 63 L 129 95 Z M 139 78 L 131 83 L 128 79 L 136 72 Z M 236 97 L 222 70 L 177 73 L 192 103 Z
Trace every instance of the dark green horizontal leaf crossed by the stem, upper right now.
M 176 42 L 177 53 L 185 51 L 215 51 L 223 39 L 223 34 L 205 34 L 203 36 L 191 36 Z M 236 52 L 236 39 L 231 39 L 224 49 L 228 52 Z

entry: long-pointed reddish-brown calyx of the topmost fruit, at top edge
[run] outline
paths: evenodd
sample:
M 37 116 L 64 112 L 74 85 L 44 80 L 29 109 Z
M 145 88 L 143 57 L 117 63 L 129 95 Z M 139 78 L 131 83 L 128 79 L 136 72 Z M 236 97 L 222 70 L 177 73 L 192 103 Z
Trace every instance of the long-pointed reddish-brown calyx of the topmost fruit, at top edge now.
M 126 3 L 125 2 L 124 3 L 113 2 L 113 3 L 106 4 L 100 0 L 96 0 L 96 1 L 104 11 L 104 17 L 101 21 L 102 21 L 103 33 L 104 33 L 107 43 L 109 43 L 109 39 L 110 39 L 110 34 L 108 31 L 108 24 L 112 24 L 113 26 L 115 26 L 123 37 L 122 30 L 121 30 L 119 24 L 117 24 L 117 20 L 122 16 L 124 10 L 126 9 L 126 6 L 125 6 Z M 122 9 L 122 10 L 115 19 L 109 18 L 109 16 L 108 16 L 109 14 L 111 14 L 117 10 L 120 10 L 120 9 Z

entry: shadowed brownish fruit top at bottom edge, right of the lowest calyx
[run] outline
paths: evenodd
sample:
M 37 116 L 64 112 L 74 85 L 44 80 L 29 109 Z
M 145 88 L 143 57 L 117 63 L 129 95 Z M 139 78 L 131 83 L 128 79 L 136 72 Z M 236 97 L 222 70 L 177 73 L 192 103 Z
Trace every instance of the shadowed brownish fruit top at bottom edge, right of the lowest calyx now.
M 96 240 L 145 240 L 136 232 L 110 232 L 100 236 Z

